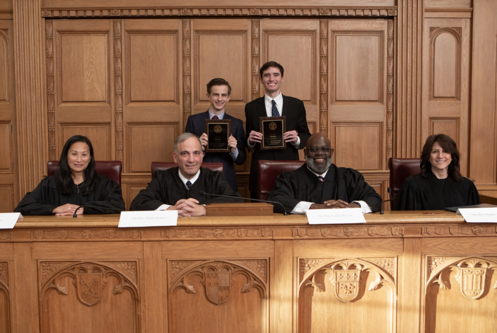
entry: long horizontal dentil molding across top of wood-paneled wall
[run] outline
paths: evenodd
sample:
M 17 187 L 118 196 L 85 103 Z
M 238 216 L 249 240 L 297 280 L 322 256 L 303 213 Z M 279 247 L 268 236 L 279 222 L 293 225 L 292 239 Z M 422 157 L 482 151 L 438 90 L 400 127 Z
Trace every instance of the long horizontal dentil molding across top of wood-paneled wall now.
M 82 8 L 60 10 L 44 8 L 42 17 L 107 16 L 397 16 L 397 7 L 364 8 Z

